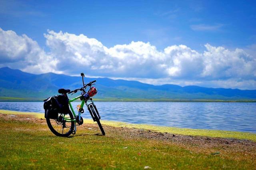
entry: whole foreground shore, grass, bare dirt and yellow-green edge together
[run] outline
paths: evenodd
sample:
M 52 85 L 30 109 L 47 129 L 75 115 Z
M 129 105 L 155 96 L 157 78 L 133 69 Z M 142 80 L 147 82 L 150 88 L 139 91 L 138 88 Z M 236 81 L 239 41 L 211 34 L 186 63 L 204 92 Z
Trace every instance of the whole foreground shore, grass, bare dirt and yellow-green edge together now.
M 102 124 L 106 136 L 86 120 L 64 138 L 50 132 L 41 113 L 0 110 L 0 169 L 255 169 L 255 141 L 178 134 L 192 129 L 170 128 L 174 135 L 160 132 L 165 127 Z

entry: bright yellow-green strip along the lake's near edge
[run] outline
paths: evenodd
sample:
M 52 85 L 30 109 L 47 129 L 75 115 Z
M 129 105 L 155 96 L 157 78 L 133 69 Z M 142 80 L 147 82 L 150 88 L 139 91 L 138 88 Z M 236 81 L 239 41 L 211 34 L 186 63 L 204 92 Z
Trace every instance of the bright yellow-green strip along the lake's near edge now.
M 0 110 L 3 114 L 12 115 L 34 115 L 39 119 L 44 119 L 44 114 L 35 112 L 18 112 Z M 93 123 L 92 119 L 84 119 L 84 123 Z M 238 132 L 238 131 L 227 131 L 227 130 L 208 130 L 208 129 L 192 129 L 192 128 L 178 128 L 178 127 L 164 127 L 156 125 L 146 124 L 132 124 L 117 121 L 105 121 L 101 120 L 103 125 L 112 127 L 128 127 L 128 128 L 143 128 L 146 130 L 154 130 L 156 132 L 168 132 L 172 134 L 191 135 L 191 136 L 208 136 L 208 137 L 219 137 L 219 138 L 236 138 L 242 140 L 252 140 L 256 142 L 256 134 L 251 132 Z

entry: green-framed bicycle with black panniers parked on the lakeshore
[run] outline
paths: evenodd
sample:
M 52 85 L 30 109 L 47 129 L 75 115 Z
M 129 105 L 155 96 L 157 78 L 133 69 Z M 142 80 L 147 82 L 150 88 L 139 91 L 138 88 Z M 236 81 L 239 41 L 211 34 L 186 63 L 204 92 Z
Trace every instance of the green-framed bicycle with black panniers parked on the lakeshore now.
M 69 89 L 59 89 L 58 92 L 62 95 L 49 97 L 48 99 L 44 100 L 44 109 L 47 112 L 45 112 L 46 122 L 52 133 L 55 134 L 56 136 L 67 137 L 70 136 L 70 134 L 76 134 L 76 127 L 82 125 L 84 122 L 83 118 L 81 117 L 81 114 L 84 113 L 84 104 L 86 104 L 93 121 L 96 121 L 98 123 L 102 135 L 105 135 L 104 129 L 100 123 L 100 114 L 98 113 L 96 105 L 92 100 L 92 96 L 96 95 L 97 93 L 97 89 L 95 87 L 92 87 L 96 80 L 90 81 L 90 83 L 84 85 L 84 73 L 81 73 L 81 76 L 83 81 L 83 87 L 81 87 L 80 89 L 74 89 L 72 91 L 70 91 Z M 86 92 L 86 88 L 88 87 L 90 87 L 90 89 L 88 92 Z M 81 91 L 81 95 L 71 100 L 68 99 L 67 93 L 72 93 L 73 95 L 78 91 Z M 68 105 L 65 102 L 65 104 L 63 104 L 63 108 L 65 109 L 55 109 L 55 107 L 53 107 L 53 105 L 55 105 L 56 102 L 58 103 L 58 106 L 60 105 L 60 99 L 68 100 Z M 71 103 L 78 99 L 80 99 L 82 103 L 81 105 L 77 105 L 78 115 L 76 115 Z M 90 103 L 88 103 L 88 101 L 90 101 Z M 71 111 L 68 108 L 68 106 L 70 107 Z

